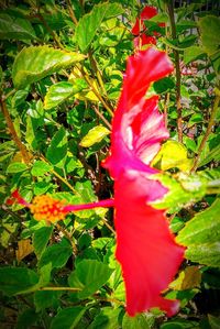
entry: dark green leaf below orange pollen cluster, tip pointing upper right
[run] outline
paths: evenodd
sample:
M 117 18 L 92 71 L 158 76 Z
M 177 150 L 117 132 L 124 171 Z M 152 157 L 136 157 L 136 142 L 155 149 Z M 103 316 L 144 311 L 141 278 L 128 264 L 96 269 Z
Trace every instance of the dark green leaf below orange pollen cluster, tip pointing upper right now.
M 72 253 L 72 245 L 63 239 L 62 242 L 46 248 L 38 261 L 38 267 L 52 263 L 52 268 L 61 268 L 66 264 Z

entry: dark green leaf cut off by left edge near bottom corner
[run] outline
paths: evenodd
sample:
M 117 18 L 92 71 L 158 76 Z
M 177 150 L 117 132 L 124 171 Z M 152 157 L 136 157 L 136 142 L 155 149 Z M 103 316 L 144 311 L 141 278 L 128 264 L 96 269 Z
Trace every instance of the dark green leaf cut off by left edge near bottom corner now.
M 8 296 L 29 293 L 38 283 L 38 275 L 25 267 L 1 267 L 0 289 Z

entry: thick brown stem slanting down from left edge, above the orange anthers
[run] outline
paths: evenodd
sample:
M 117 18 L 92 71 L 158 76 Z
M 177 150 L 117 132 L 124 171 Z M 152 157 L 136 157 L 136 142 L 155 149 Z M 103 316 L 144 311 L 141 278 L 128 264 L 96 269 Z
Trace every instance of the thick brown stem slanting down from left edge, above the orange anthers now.
M 24 146 L 24 144 L 21 142 L 20 138 L 16 134 L 13 121 L 11 120 L 11 117 L 10 117 L 10 113 L 7 109 L 7 105 L 6 105 L 6 101 L 4 101 L 3 97 L 0 97 L 0 105 L 1 105 L 2 113 L 3 113 L 3 117 L 6 119 L 8 129 L 10 131 L 10 134 L 12 135 L 12 139 L 13 139 L 14 143 L 16 144 L 18 149 L 20 150 L 24 163 L 29 164 L 30 161 L 31 161 L 29 152 L 28 152 L 26 147 Z

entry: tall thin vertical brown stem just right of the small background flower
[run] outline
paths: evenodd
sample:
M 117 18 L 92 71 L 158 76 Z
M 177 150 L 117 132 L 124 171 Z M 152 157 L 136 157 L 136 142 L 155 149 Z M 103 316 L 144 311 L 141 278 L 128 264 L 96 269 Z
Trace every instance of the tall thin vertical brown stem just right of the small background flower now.
M 173 1 L 167 1 L 167 9 L 172 29 L 172 39 L 176 40 L 176 24 L 174 18 L 174 3 Z M 178 133 L 178 141 L 183 142 L 183 118 L 182 118 L 182 94 L 180 94 L 180 86 L 182 86 L 182 73 L 180 73 L 180 65 L 179 65 L 179 52 L 177 50 L 173 50 L 174 52 L 174 62 L 176 68 L 176 107 L 177 107 L 177 133 Z

